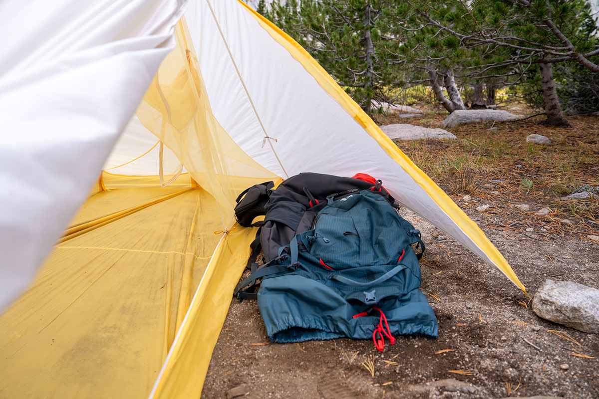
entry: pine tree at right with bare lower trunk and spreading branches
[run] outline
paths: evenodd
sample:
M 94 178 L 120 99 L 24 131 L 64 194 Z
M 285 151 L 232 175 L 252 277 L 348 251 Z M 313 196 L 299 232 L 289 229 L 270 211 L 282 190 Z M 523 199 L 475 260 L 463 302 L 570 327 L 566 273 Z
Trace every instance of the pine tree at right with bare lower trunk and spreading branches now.
M 401 18 L 391 25 L 411 37 L 400 51 L 420 68 L 427 63 L 443 74 L 451 66 L 462 81 L 489 77 L 506 84 L 536 71 L 547 122 L 559 125 L 568 121 L 553 63 L 572 60 L 599 72 L 597 42 L 580 35 L 586 8 L 583 0 L 405 0 L 398 1 Z

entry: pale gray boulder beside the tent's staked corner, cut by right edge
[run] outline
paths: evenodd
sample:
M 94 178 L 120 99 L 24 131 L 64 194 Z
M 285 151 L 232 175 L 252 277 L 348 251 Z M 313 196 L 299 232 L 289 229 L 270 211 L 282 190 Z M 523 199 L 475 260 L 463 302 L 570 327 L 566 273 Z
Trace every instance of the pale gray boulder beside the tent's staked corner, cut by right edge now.
M 585 333 L 599 333 L 599 290 L 547 279 L 534 294 L 533 312 Z

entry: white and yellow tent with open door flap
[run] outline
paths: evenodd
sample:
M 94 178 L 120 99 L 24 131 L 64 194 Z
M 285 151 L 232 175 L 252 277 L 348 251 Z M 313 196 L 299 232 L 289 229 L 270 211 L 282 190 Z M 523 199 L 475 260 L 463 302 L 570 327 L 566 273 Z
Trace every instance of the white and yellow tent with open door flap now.
M 243 2 L 0 13 L 14 16 L 0 27 L 13 38 L 0 63 L 1 397 L 198 397 L 255 234 L 235 224 L 234 199 L 299 172 L 377 176 L 524 290 L 479 227 Z

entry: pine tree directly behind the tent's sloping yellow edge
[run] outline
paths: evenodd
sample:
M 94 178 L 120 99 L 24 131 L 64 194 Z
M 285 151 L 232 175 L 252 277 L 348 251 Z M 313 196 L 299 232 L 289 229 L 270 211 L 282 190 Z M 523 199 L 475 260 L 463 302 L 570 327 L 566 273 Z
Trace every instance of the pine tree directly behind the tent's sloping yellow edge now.
M 384 0 L 288 0 L 274 2 L 268 18 L 291 35 L 369 114 L 373 100 L 388 100 L 397 68 L 384 54 Z

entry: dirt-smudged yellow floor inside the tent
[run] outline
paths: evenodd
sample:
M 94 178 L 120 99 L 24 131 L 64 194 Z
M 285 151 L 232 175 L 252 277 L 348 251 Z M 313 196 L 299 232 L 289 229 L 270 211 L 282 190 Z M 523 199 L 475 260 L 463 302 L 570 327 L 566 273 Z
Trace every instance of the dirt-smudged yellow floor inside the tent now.
M 90 197 L 0 318 L 0 397 L 147 397 L 222 237 L 187 182 Z

